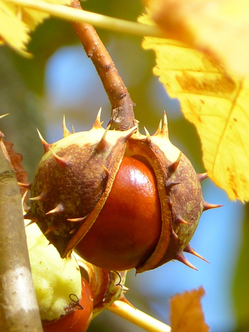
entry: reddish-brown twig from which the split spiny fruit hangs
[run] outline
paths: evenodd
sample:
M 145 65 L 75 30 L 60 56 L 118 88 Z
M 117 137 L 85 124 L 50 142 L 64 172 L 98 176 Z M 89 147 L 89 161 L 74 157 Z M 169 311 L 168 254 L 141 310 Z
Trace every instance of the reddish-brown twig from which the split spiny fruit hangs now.
M 78 0 L 72 0 L 71 7 L 82 10 Z M 71 23 L 87 56 L 93 61 L 110 100 L 111 129 L 126 130 L 133 127 L 136 122 L 133 112 L 135 104 L 96 30 L 87 23 Z

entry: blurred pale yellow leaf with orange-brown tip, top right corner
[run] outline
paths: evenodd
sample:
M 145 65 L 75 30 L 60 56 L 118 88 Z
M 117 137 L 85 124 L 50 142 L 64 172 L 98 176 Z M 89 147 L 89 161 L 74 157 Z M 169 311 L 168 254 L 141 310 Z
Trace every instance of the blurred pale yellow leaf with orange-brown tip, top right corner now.
M 229 71 L 249 74 L 248 0 L 148 0 L 166 38 L 212 54 Z

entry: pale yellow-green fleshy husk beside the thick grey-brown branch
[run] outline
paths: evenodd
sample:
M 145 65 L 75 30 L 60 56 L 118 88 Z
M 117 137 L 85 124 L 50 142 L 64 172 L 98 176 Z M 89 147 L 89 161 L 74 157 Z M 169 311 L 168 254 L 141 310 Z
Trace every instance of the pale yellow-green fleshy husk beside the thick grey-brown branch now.
M 81 297 L 78 263 L 73 255 L 67 259 L 60 258 L 55 247 L 48 245 L 36 223 L 26 227 L 26 234 L 41 319 L 58 319 L 73 304 L 69 294 Z

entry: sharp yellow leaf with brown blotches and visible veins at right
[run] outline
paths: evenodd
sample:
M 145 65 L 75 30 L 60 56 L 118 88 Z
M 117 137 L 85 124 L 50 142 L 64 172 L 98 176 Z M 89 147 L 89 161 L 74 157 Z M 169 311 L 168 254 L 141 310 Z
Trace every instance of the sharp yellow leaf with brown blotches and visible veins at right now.
M 229 76 L 206 54 L 179 41 L 145 37 L 142 45 L 155 51 L 154 74 L 195 124 L 208 176 L 231 200 L 248 201 L 249 78 Z

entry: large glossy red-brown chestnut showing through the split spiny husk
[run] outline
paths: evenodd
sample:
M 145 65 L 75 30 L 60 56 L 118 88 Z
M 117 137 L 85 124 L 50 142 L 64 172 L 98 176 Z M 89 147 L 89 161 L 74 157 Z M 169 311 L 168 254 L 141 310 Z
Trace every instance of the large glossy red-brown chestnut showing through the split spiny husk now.
M 153 171 L 141 161 L 124 156 L 105 205 L 75 249 L 96 266 L 128 270 L 152 254 L 161 229 Z

